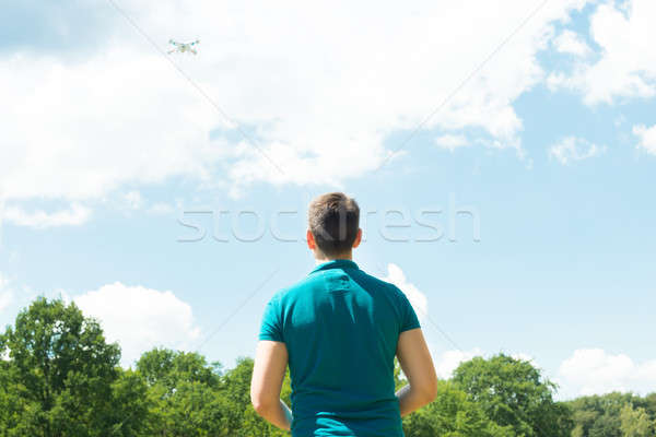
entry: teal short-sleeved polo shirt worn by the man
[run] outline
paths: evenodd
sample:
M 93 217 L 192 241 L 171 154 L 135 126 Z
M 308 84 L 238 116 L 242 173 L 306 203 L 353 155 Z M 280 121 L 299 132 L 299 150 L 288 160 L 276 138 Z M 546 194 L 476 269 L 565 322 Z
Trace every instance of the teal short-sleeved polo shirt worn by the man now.
M 292 436 L 403 437 L 394 357 L 399 334 L 419 327 L 399 288 L 350 260 L 273 295 L 259 340 L 286 345 Z

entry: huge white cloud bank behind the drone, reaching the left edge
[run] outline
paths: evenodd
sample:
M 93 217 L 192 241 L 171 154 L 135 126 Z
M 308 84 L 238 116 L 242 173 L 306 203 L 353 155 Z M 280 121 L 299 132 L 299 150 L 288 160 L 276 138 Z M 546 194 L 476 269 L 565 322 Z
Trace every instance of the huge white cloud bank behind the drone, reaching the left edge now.
M 544 75 L 536 55 L 551 24 L 585 3 L 547 3 L 425 128 L 477 128 L 519 150 L 512 104 Z M 173 176 L 220 179 L 233 192 L 258 181 L 339 185 L 377 168 L 387 135 L 419 125 L 529 12 L 522 0 L 121 7 L 159 44 L 200 37 L 197 57 L 171 59 L 282 173 L 234 129 L 210 135 L 235 125 L 120 22 L 89 58 L 0 60 L 9 199 L 95 199 Z

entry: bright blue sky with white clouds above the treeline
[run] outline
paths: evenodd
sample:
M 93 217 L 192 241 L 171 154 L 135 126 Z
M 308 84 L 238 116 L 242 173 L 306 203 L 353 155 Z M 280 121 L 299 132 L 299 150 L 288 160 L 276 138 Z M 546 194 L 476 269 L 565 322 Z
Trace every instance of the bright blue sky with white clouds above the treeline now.
M 341 190 L 441 377 L 505 353 L 559 399 L 656 391 L 655 2 L 3 11 L 1 326 L 61 297 L 125 366 L 232 367 L 314 267 L 309 200 Z

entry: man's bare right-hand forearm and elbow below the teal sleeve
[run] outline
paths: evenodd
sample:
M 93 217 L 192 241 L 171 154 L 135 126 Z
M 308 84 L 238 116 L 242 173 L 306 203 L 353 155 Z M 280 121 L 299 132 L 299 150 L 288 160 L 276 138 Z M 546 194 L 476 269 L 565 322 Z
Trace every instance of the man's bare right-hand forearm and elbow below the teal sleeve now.
M 405 416 L 433 402 L 437 395 L 437 375 L 420 328 L 401 332 L 397 357 L 409 382 L 396 393 Z

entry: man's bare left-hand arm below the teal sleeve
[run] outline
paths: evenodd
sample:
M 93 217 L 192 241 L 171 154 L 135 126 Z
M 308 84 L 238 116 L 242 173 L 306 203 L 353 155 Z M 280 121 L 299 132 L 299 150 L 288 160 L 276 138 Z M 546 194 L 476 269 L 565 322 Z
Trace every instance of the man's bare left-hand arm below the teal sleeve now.
M 255 411 L 281 429 L 290 430 L 292 412 L 280 399 L 288 351 L 282 342 L 260 341 L 255 354 L 250 402 Z

